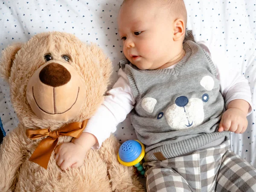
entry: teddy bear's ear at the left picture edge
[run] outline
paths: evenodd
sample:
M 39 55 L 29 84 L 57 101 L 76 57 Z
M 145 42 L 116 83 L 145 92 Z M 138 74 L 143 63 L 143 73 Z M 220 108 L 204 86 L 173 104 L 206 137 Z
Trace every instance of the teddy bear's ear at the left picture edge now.
M 11 75 L 11 68 L 15 59 L 15 55 L 17 54 L 18 50 L 20 50 L 21 46 L 21 43 L 16 43 L 6 47 L 2 51 L 2 57 L 0 59 L 0 77 L 6 81 L 8 81 Z

